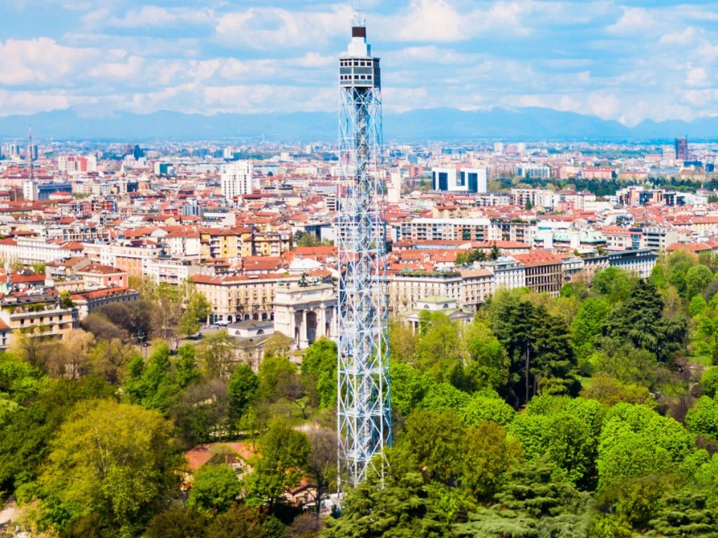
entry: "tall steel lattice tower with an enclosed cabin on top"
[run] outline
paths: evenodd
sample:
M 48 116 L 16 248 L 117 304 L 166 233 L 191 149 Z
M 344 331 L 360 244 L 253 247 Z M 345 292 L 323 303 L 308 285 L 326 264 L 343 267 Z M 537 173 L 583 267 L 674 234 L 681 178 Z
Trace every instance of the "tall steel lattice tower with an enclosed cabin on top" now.
M 391 445 L 386 227 L 381 214 L 381 74 L 358 10 L 340 58 L 337 217 L 339 485 L 356 486 Z M 383 473 L 383 458 L 378 461 Z

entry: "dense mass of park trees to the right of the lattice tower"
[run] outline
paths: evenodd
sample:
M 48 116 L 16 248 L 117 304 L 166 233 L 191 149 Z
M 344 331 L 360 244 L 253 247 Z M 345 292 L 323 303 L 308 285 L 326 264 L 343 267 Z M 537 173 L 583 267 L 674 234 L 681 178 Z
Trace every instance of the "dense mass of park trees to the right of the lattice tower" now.
M 499 292 L 468 326 L 392 326 L 384 488 L 370 477 L 325 535 L 718 536 L 715 262 L 678 253 L 647 280 Z

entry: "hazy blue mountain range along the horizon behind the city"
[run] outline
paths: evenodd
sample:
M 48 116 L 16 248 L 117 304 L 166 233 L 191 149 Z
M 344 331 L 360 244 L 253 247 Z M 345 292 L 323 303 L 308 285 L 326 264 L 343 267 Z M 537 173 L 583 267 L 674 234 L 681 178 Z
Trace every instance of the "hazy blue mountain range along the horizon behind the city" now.
M 106 118 L 85 117 L 77 109 L 0 117 L 0 138 L 24 137 L 32 123 L 47 140 L 218 140 L 259 139 L 284 142 L 334 141 L 337 115 L 327 112 L 271 114 L 184 114 L 160 111 L 141 115 L 117 112 Z M 718 117 L 695 121 L 643 121 L 626 127 L 595 115 L 549 108 L 465 111 L 425 108 L 386 113 L 386 141 L 498 140 L 671 141 L 679 136 L 718 141 Z

